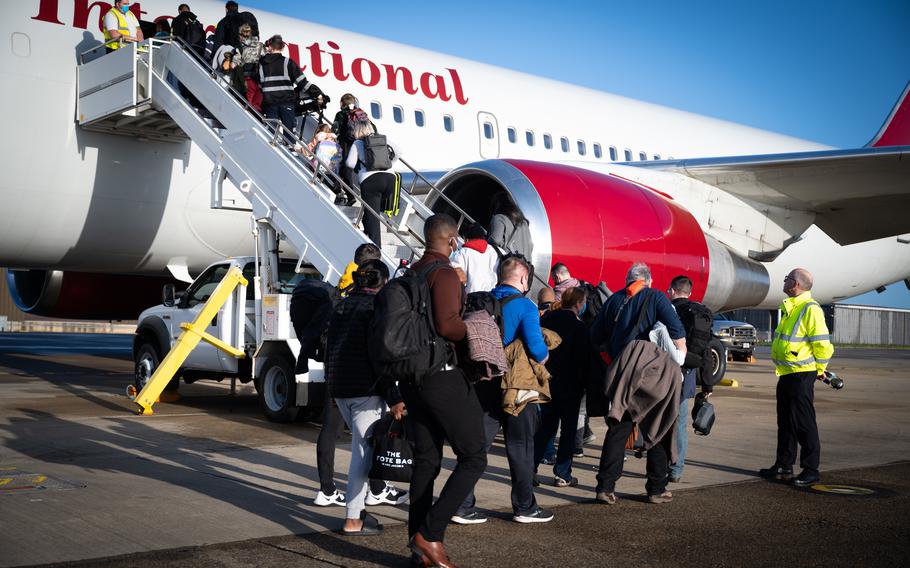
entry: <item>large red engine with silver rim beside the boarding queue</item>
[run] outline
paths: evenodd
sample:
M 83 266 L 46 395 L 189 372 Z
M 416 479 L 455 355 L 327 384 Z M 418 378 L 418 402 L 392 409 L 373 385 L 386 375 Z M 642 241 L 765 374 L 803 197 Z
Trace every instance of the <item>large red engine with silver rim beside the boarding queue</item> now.
M 487 160 L 449 172 L 438 186 L 487 224 L 507 192 L 530 222 L 532 262 L 546 278 L 555 262 L 577 278 L 625 286 L 633 262 L 646 262 L 654 287 L 689 276 L 693 299 L 714 309 L 755 305 L 768 292 L 767 271 L 707 237 L 694 217 L 657 190 L 589 170 L 524 160 Z M 436 211 L 451 211 L 443 200 Z

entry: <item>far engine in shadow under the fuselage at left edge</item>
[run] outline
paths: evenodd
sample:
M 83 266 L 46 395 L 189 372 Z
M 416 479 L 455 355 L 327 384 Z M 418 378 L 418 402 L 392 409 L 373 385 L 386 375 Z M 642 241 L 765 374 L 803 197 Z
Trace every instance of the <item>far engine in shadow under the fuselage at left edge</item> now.
M 60 270 L 9 270 L 7 283 L 16 306 L 38 316 L 131 320 L 161 302 L 170 278 L 92 274 Z M 179 289 L 179 288 L 178 288 Z

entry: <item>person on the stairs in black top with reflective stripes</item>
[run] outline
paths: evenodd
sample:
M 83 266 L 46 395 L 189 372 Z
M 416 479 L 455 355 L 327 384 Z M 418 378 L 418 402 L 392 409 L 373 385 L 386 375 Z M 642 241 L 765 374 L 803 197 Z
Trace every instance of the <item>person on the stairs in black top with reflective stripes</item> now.
M 259 60 L 259 86 L 262 88 L 262 110 L 266 118 L 281 121 L 290 143 L 297 126 L 295 108 L 298 93 L 306 90 L 310 83 L 300 67 L 281 54 L 285 45 L 280 35 L 272 36 L 266 42 L 268 53 Z

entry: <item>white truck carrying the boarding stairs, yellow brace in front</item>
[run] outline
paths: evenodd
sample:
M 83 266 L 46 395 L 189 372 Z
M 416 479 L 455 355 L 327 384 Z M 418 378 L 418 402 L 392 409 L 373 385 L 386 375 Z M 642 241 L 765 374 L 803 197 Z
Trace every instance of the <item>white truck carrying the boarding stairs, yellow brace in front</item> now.
M 260 257 L 260 259 L 263 257 Z M 272 256 L 272 258 L 275 258 Z M 240 286 L 233 298 L 219 310 L 206 330 L 222 341 L 241 348 L 246 357 L 237 359 L 213 345 L 200 342 L 181 366 L 168 390 L 176 390 L 182 378 L 186 383 L 200 379 L 254 381 L 263 412 L 276 422 L 289 422 L 301 410 L 318 413 L 325 402 L 325 375 L 321 363 L 310 361 L 310 372 L 295 375 L 300 342 L 290 318 L 290 298 L 294 286 L 304 278 L 320 274 L 296 260 L 280 259 L 256 266 L 256 257 L 236 257 L 206 268 L 181 293 L 173 284 L 162 291 L 162 303 L 142 312 L 133 339 L 135 386 L 141 391 L 161 360 L 182 333 L 183 323 L 199 315 L 209 295 L 232 266 L 243 272 L 249 286 Z M 263 285 L 263 282 L 269 284 Z M 262 292 L 259 292 L 262 290 Z M 242 303 L 242 310 L 239 305 Z

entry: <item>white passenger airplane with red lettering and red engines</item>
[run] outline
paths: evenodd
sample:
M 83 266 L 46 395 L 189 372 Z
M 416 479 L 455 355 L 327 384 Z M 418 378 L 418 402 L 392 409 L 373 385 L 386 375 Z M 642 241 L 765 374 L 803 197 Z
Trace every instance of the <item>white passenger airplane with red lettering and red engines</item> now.
M 178 2 L 144 0 L 140 19 Z M 190 3 L 209 31 L 220 1 Z M 100 44 L 106 2 L 4 7 L 0 266 L 26 312 L 132 319 L 165 279 L 250 254 L 249 214 L 210 208 L 212 162 L 190 140 L 77 126 L 79 55 Z M 261 35 L 334 101 L 354 93 L 407 161 L 485 223 L 508 192 L 530 220 L 533 264 L 624 285 L 677 274 L 715 310 L 775 308 L 783 277 L 812 271 L 821 303 L 910 286 L 908 89 L 870 143 L 834 149 L 525 73 L 256 11 Z M 533 85 L 533 88 L 529 86 Z M 596 108 L 596 113 L 542 112 Z M 333 102 L 333 105 L 335 103 Z M 334 106 L 331 110 L 334 110 Z M 35 110 L 35 111 L 33 111 Z M 871 132 L 871 129 L 870 129 Z M 445 203 L 434 205 L 445 211 Z

